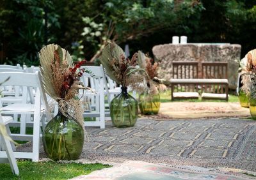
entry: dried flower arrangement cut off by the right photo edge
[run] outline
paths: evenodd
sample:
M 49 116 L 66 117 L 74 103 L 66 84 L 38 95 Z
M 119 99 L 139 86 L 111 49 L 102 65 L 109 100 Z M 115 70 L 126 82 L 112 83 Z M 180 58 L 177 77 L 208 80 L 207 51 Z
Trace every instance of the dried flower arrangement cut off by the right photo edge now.
M 250 96 L 256 98 L 256 49 L 250 50 L 246 56 L 241 59 L 240 71 L 242 75 L 242 89 Z

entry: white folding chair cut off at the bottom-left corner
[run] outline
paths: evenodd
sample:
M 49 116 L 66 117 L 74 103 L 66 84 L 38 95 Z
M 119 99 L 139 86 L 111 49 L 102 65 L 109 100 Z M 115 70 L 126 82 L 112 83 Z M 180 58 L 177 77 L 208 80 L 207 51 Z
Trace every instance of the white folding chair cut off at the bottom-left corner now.
M 10 116 L 2 117 L 0 114 L 0 124 L 4 126 L 4 129 L 6 130 L 6 132 L 8 132 L 9 130 L 9 128 L 8 127 L 6 128 L 6 126 L 8 126 L 8 124 L 11 122 L 12 122 L 12 117 Z M 12 173 L 19 175 L 19 168 L 17 166 L 17 162 L 12 151 L 11 142 L 10 140 L 6 139 L 6 137 L 3 137 L 1 133 L 0 133 L 0 152 L 6 154 L 6 158 L 0 158 L 0 163 L 10 163 Z

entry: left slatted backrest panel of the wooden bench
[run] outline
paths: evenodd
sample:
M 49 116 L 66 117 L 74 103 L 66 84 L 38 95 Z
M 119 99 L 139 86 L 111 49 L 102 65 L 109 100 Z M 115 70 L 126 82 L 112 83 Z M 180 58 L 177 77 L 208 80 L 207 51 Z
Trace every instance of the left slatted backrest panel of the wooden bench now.
M 172 63 L 173 79 L 198 79 L 198 62 L 176 61 Z

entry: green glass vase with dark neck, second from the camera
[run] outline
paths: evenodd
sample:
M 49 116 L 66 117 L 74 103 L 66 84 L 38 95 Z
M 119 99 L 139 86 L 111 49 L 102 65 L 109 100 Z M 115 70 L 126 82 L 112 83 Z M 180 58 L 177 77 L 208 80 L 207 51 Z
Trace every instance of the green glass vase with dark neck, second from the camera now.
M 110 103 L 110 116 L 114 126 L 118 128 L 132 127 L 138 119 L 138 101 L 127 93 L 127 87 Z

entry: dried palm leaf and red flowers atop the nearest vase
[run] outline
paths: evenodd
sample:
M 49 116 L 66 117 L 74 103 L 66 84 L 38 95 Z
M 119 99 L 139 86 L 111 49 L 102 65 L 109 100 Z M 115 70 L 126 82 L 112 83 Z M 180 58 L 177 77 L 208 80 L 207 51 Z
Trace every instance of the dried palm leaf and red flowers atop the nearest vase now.
M 76 95 L 83 87 L 79 78 L 86 71 L 81 69 L 83 60 L 74 64 L 67 50 L 50 44 L 39 52 L 40 71 L 45 92 L 57 101 L 60 111 L 77 119 L 83 126 L 83 109 Z

